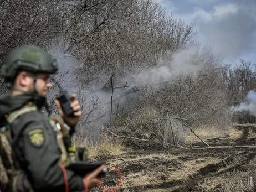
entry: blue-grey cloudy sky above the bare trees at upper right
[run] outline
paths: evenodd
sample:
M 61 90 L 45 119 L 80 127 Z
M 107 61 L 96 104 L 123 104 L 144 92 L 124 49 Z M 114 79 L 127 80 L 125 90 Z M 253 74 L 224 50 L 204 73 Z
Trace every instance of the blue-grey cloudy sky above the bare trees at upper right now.
M 194 23 L 197 40 L 225 64 L 256 63 L 256 0 L 156 0 L 165 11 Z

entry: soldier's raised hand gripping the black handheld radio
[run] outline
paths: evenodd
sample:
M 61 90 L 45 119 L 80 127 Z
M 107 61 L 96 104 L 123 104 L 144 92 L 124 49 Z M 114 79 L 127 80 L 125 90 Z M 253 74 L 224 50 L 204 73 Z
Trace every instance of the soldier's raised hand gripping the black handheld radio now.
M 58 108 L 59 111 L 59 115 L 62 116 L 63 120 L 65 121 L 66 124 L 68 124 L 69 126 L 76 126 L 76 124 L 78 124 L 80 117 L 81 117 L 81 107 L 80 107 L 80 103 L 78 100 L 76 100 L 76 95 L 72 94 L 71 96 L 71 104 L 70 107 L 73 109 L 74 111 L 74 116 L 69 117 L 66 116 L 65 113 L 62 111 L 62 107 L 60 107 L 60 102 L 59 100 L 55 100 L 55 105 Z

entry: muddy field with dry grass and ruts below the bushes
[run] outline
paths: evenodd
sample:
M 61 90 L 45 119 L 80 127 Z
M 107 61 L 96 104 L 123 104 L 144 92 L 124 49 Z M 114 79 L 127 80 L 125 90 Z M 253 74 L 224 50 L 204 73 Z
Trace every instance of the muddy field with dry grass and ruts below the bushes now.
M 256 126 L 234 125 L 228 131 L 205 128 L 196 133 L 211 147 L 187 133 L 182 148 L 132 150 L 116 144 L 104 149 L 103 144 L 97 152 L 101 155 L 94 152 L 90 160 L 121 170 L 123 181 L 117 191 L 254 191 Z M 103 182 L 112 186 L 117 179 L 109 172 Z

